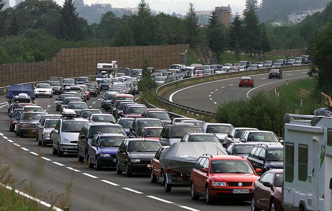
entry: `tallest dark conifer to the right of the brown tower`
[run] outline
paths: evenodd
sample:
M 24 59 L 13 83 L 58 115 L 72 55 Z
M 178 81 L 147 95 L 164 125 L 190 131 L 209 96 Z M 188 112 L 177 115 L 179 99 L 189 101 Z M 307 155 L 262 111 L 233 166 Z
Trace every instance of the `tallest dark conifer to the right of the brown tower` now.
M 244 10 L 244 29 L 246 34 L 246 48 L 252 56 L 252 51 L 257 47 L 259 35 L 258 27 L 258 0 L 246 0 L 246 8 Z

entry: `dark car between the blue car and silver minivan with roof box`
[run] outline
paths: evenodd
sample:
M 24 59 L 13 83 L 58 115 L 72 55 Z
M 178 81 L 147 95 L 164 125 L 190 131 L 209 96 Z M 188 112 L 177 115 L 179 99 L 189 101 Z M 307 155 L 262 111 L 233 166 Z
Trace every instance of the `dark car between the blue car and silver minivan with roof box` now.
M 78 147 L 78 160 L 83 162 L 86 158 L 89 145 L 93 137 L 100 133 L 122 133 L 125 135 L 125 130 L 121 125 L 112 123 L 93 123 L 89 122 L 84 124 L 79 134 L 77 147 Z

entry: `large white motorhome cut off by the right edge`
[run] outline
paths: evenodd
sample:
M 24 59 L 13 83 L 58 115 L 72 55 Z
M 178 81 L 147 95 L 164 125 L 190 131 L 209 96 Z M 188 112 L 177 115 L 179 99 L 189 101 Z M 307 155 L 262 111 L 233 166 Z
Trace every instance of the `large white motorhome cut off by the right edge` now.
M 285 211 L 332 211 L 330 116 L 284 117 Z

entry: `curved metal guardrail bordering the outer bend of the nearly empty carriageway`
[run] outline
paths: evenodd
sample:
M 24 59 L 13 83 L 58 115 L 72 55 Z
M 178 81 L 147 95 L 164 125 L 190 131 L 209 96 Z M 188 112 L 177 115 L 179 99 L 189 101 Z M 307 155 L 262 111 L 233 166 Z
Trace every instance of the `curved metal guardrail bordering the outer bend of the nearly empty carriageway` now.
M 249 73 L 252 72 L 254 73 L 255 71 L 262 71 L 262 72 L 265 72 L 265 73 L 268 73 L 270 71 L 270 69 L 281 69 L 282 71 L 290 71 L 290 70 L 296 70 L 292 67 L 296 67 L 296 69 L 310 69 L 312 67 L 312 64 L 304 64 L 304 65 L 297 65 L 297 66 L 283 66 L 283 67 L 270 67 L 270 68 L 260 68 L 260 69 L 255 69 L 255 70 L 244 70 L 244 71 L 241 71 L 241 72 L 228 72 L 228 73 L 219 73 L 219 74 L 212 74 L 212 75 L 207 75 L 207 76 L 200 76 L 200 77 L 192 77 L 192 78 L 187 78 L 187 79 L 181 79 L 181 80 L 178 80 L 178 81 L 174 81 L 174 82 L 170 82 L 170 83 L 167 83 L 167 84 L 163 84 L 161 86 L 159 86 L 156 91 L 155 91 L 155 94 L 156 94 L 156 97 L 159 101 L 167 104 L 167 105 L 170 105 L 170 106 L 175 106 L 177 107 L 178 109 L 183 109 L 183 110 L 186 110 L 187 112 L 191 112 L 192 114 L 196 114 L 196 115 L 208 115 L 208 116 L 211 116 L 211 117 L 215 117 L 217 114 L 214 113 L 214 112 L 208 112 L 208 111 L 205 111 L 205 110 L 200 110 L 200 109 L 195 109 L 195 108 L 191 108 L 191 107 L 187 107 L 185 105 L 180 105 L 180 104 L 176 104 L 176 103 L 173 103 L 173 102 L 170 102 L 164 98 L 162 98 L 161 96 L 159 96 L 158 92 L 167 87 L 167 86 L 171 86 L 171 85 L 175 85 L 175 84 L 179 84 L 179 83 L 183 83 L 183 82 L 187 82 L 187 81 L 195 81 L 195 80 L 204 80 L 204 79 L 207 79 L 206 82 L 209 82 L 209 78 L 212 78 L 212 77 L 216 77 L 216 76 L 227 76 L 227 75 L 235 75 L 235 74 L 238 74 L 238 73 Z M 247 75 L 247 74 L 244 74 L 244 75 Z M 194 83 L 192 83 L 194 84 Z

